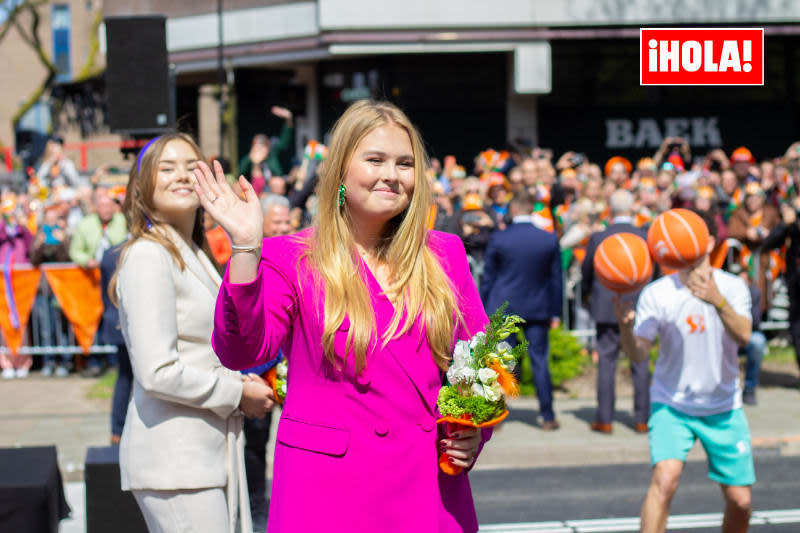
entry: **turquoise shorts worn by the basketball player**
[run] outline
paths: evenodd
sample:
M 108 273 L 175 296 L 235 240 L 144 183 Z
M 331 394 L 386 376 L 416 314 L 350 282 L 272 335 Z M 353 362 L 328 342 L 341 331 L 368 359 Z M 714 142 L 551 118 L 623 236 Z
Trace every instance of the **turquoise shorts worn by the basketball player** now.
M 708 456 L 708 477 L 730 486 L 756 482 L 750 428 L 741 409 L 709 416 L 691 416 L 665 405 L 650 409 L 650 461 L 686 461 L 689 450 L 700 440 Z

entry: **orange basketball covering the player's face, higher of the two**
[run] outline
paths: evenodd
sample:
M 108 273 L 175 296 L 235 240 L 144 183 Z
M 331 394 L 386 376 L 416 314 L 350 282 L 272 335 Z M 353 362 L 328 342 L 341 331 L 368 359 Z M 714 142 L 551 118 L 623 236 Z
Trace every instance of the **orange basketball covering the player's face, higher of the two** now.
M 659 265 L 682 269 L 693 265 L 708 248 L 708 227 L 697 213 L 670 209 L 650 225 L 647 245 Z

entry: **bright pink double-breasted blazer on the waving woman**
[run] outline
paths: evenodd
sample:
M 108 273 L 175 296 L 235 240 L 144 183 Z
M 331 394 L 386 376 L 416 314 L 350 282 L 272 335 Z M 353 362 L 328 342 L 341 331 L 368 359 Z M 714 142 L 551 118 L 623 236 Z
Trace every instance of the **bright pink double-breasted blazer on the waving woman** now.
M 301 239 L 309 231 L 265 239 L 252 283 L 230 283 L 226 272 L 214 316 L 214 350 L 228 368 L 261 364 L 279 349 L 287 356 L 269 532 L 474 533 L 478 523 L 467 474 L 448 476 L 438 469 L 442 373 L 422 321 L 386 348 L 369 352 L 358 375 L 353 354 L 345 367 L 334 369 L 322 349 L 324 300 L 315 294 L 308 269 L 298 266 Z M 455 235 L 428 235 L 469 330 L 459 326 L 454 337 L 469 338 L 485 329 L 488 318 L 464 245 Z M 393 307 L 362 266 L 382 332 Z M 340 359 L 349 327 L 345 317 L 335 338 Z M 490 436 L 485 431 L 484 442 Z

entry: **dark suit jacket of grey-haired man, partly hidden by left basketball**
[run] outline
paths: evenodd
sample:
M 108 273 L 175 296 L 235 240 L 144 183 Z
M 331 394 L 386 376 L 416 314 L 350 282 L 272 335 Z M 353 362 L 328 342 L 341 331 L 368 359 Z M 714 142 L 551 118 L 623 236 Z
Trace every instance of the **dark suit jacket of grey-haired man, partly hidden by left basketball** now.
M 637 228 L 633 224 L 617 223 L 611 224 L 603 231 L 593 233 L 589 237 L 589 244 L 586 245 L 586 257 L 581 264 L 581 273 L 583 280 L 581 281 L 581 291 L 583 292 L 584 301 L 588 298 L 589 310 L 592 318 L 597 324 L 603 325 L 616 325 L 617 317 L 614 315 L 614 298 L 616 293 L 606 289 L 597 281 L 594 275 L 594 252 L 603 240 L 615 233 L 633 233 L 647 240 L 647 230 L 644 228 Z M 636 300 L 639 298 L 641 291 L 631 292 L 623 295 L 623 299 L 628 299 L 636 305 Z

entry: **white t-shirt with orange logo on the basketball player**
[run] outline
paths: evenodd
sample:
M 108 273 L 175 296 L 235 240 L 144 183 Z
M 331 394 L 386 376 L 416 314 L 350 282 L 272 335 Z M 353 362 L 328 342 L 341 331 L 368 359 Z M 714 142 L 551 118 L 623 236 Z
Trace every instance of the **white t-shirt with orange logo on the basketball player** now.
M 738 277 L 714 269 L 719 291 L 736 313 L 751 318 L 750 290 Z M 692 295 L 677 274 L 647 285 L 636 306 L 634 335 L 658 337 L 650 400 L 691 416 L 742 406 L 739 346 L 713 305 Z

